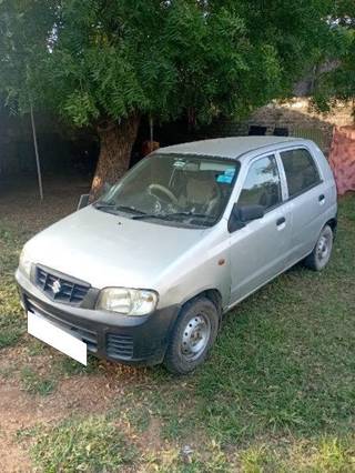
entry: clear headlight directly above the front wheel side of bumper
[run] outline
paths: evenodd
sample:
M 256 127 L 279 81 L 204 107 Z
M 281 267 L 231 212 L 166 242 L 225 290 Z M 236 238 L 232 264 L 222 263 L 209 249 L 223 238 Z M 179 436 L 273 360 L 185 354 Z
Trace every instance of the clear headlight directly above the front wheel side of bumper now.
M 108 288 L 100 293 L 97 309 L 125 315 L 146 315 L 156 308 L 158 293 L 142 289 Z

